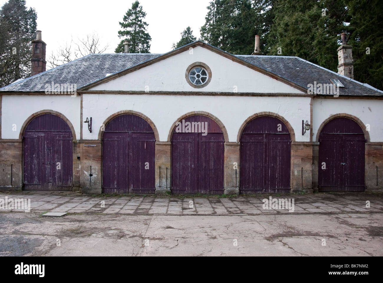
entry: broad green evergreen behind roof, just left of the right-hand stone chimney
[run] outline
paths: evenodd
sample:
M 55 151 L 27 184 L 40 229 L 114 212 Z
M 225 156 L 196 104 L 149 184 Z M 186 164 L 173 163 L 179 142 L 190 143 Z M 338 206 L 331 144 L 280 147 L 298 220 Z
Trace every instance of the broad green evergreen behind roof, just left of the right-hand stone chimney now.
M 268 54 L 298 56 L 337 71 L 336 49 L 347 20 L 342 0 L 277 1 L 273 12 Z

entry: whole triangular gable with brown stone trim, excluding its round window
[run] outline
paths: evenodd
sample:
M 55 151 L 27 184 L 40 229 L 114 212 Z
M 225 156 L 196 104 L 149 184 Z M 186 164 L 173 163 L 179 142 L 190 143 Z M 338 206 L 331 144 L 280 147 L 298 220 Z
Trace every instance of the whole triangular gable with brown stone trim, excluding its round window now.
M 194 88 L 185 71 L 202 62 L 211 69 L 211 81 Z M 157 58 L 84 86 L 79 92 L 210 92 L 306 94 L 298 84 L 250 64 L 210 44 L 196 41 Z

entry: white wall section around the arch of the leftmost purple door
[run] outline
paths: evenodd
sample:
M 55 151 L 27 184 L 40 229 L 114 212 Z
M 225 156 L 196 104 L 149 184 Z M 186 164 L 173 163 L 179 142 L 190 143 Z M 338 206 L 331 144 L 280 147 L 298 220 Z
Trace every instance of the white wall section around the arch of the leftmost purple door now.
M 70 95 L 3 95 L 2 138 L 18 139 L 25 120 L 41 110 L 60 112 L 72 123 L 80 139 L 80 96 Z M 16 124 L 16 131 L 13 131 Z

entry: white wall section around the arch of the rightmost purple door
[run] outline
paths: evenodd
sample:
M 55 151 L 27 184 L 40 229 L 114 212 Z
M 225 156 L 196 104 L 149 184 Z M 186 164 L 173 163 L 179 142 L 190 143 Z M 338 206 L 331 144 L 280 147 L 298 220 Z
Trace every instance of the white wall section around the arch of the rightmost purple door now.
M 383 141 L 383 100 L 373 99 L 314 99 L 313 140 L 324 120 L 334 114 L 347 113 L 359 118 L 364 125 L 370 124 L 370 141 Z

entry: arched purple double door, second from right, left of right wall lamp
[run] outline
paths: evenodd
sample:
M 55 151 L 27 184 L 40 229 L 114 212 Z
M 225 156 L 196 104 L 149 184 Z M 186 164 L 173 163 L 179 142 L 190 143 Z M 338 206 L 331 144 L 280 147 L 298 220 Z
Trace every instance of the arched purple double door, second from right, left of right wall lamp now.
M 240 193 L 289 193 L 290 156 L 290 133 L 281 120 L 251 120 L 241 135 Z

